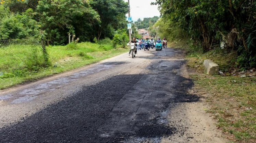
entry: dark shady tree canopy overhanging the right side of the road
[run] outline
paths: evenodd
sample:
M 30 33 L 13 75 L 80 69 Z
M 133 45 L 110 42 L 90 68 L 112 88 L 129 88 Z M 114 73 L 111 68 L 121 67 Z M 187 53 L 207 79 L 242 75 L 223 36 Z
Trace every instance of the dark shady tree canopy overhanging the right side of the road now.
M 178 23 L 204 51 L 221 41 L 237 62 L 256 67 L 256 2 L 253 0 L 156 0 L 163 19 Z

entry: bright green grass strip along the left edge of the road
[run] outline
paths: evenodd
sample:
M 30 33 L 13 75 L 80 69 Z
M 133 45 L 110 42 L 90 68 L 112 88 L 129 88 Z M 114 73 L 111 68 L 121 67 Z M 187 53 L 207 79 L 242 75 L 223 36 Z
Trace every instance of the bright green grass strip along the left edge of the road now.
M 34 81 L 113 57 L 128 49 L 89 42 L 49 46 L 51 66 L 44 68 L 39 46 L 11 45 L 0 48 L 0 89 Z

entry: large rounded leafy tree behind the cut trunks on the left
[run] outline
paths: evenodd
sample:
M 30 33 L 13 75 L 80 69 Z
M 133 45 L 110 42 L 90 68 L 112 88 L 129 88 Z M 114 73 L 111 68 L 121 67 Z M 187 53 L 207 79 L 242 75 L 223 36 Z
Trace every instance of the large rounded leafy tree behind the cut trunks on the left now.
M 93 37 L 85 30 L 100 23 L 99 15 L 82 0 L 40 0 L 36 9 L 41 29 L 47 40 L 54 45 L 67 43 L 68 33 L 76 34 L 81 40 Z M 82 35 L 84 34 L 84 35 Z

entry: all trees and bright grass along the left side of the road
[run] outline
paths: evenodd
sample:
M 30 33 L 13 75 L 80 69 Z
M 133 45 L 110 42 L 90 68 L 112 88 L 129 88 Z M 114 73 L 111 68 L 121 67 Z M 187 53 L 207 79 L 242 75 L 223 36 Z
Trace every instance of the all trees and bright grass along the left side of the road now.
M 127 51 L 123 0 L 0 0 L 0 89 Z

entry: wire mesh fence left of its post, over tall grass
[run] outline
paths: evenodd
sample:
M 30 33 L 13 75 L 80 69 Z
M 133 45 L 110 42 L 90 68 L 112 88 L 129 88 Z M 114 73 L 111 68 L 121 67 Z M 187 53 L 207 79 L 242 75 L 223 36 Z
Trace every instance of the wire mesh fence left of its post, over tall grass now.
M 46 67 L 47 54 L 42 48 L 42 41 L 27 39 L 0 40 L 0 71 L 16 69 L 32 70 Z

